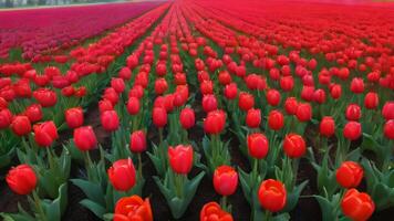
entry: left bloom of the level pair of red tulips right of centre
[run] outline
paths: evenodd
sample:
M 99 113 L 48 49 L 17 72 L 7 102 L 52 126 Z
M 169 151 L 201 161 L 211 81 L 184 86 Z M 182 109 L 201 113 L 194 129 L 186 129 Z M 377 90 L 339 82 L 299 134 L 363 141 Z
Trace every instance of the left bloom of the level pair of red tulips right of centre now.
M 269 143 L 263 134 L 255 133 L 248 135 L 247 145 L 249 155 L 256 159 L 262 159 L 267 156 Z

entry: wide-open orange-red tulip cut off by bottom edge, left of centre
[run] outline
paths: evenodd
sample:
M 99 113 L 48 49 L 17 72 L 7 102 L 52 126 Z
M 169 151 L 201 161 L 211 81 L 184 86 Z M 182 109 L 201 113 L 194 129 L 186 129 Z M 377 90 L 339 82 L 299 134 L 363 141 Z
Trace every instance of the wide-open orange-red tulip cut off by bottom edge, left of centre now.
M 149 199 L 136 194 L 121 198 L 115 206 L 114 221 L 126 220 L 153 221 Z

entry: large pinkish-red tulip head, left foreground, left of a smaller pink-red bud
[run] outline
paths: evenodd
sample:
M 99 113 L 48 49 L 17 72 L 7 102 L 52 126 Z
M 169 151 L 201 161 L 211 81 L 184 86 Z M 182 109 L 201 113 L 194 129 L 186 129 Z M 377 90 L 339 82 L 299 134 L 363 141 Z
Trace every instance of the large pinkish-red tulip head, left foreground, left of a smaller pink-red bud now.
M 74 129 L 74 143 L 81 151 L 94 149 L 97 145 L 96 136 L 91 126 Z

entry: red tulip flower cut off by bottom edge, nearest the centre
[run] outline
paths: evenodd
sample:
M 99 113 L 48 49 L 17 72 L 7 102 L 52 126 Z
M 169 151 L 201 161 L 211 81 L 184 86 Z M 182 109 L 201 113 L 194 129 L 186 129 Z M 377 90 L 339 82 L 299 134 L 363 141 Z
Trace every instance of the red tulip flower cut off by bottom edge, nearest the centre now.
M 200 212 L 199 220 L 200 221 L 232 221 L 232 215 L 226 211 L 224 211 L 217 202 L 208 202 L 206 203 Z

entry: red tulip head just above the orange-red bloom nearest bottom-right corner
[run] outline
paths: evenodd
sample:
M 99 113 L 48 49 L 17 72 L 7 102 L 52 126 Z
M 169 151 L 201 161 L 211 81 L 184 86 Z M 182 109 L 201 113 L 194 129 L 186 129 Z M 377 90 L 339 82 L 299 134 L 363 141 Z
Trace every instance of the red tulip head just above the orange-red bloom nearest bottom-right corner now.
M 336 169 L 336 182 L 343 188 L 355 188 L 360 185 L 363 178 L 363 168 L 354 161 L 344 161 Z

